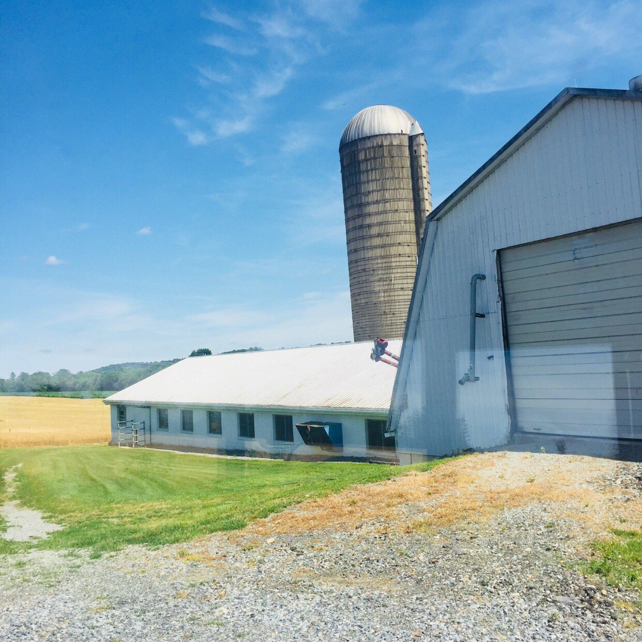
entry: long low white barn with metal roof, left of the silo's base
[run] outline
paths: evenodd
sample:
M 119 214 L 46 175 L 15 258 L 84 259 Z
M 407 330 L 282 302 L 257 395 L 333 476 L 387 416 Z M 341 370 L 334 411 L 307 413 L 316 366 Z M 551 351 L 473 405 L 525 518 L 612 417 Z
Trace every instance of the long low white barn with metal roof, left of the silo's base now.
M 396 369 L 372 343 L 187 358 L 105 399 L 112 444 L 309 460 L 394 460 Z M 399 354 L 401 341 L 390 342 Z

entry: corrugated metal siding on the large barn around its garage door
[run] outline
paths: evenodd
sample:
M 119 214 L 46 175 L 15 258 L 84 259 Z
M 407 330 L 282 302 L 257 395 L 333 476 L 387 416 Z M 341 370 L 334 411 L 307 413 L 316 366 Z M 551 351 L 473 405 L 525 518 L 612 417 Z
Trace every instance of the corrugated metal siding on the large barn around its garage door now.
M 444 455 L 506 442 L 496 250 L 642 216 L 641 150 L 642 101 L 576 96 L 431 223 L 435 245 L 426 279 L 415 286 L 419 313 L 408 327 L 408 370 L 391 414 L 399 451 Z M 487 276 L 478 286 L 478 311 L 487 313 L 477 322 L 480 381 L 458 386 L 476 272 Z

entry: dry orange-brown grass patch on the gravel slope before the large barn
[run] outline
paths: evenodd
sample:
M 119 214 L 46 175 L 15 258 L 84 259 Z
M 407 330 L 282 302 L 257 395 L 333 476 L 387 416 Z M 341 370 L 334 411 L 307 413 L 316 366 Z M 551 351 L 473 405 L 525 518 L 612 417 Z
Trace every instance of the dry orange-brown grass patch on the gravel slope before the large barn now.
M 499 510 L 534 502 L 548 503 L 551 517 L 570 512 L 585 528 L 605 532 L 621 527 L 622 504 L 614 496 L 625 491 L 600 489 L 596 480 L 615 465 L 582 456 L 471 455 L 426 473 L 408 473 L 308 501 L 248 526 L 242 536 L 351 530 L 373 520 L 382 522 L 381 532 L 431 532 L 457 522 L 484 521 Z M 414 506 L 412 517 L 408 505 Z M 626 507 L 627 528 L 642 526 L 642 502 L 632 499 Z

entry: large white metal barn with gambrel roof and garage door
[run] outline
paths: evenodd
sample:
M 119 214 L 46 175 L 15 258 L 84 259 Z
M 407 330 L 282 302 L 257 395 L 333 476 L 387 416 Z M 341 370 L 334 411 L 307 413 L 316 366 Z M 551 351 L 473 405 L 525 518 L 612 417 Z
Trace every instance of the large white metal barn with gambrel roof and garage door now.
M 429 216 L 400 462 L 642 438 L 642 77 L 564 89 Z

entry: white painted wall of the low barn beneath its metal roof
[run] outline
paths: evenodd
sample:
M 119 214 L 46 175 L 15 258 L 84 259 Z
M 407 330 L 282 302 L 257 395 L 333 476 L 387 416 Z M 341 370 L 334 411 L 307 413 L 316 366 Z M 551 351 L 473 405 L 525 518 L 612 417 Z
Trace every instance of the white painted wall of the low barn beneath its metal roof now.
M 149 424 L 148 408 L 126 405 L 127 419 L 144 421 L 145 426 Z M 254 412 L 254 439 L 241 438 L 238 435 L 238 412 L 236 410 L 221 410 L 222 435 L 211 435 L 207 426 L 207 410 L 203 408 L 189 408 L 194 413 L 194 432 L 187 433 L 180 429 L 181 408 L 168 408 L 169 430 L 159 431 L 157 406 L 152 406 L 152 445 L 180 446 L 193 448 L 211 448 L 225 451 L 259 451 L 262 453 L 281 453 L 294 455 L 316 455 L 346 457 L 370 457 L 383 456 L 395 457 L 395 453 L 381 453 L 381 451 L 369 451 L 366 440 L 366 417 L 364 415 L 349 415 L 342 413 L 301 413 L 291 412 L 293 424 L 306 421 L 338 422 L 343 427 L 343 452 L 331 453 L 324 451 L 318 446 L 306 446 L 299 431 L 294 425 L 294 442 L 276 442 L 274 440 L 273 412 Z M 217 410 L 211 408 L 211 410 Z M 276 414 L 288 414 L 285 412 Z M 112 444 L 117 443 L 117 406 L 112 405 Z M 385 419 L 386 415 L 372 415 L 372 419 Z

